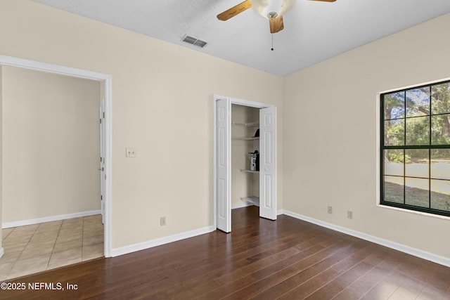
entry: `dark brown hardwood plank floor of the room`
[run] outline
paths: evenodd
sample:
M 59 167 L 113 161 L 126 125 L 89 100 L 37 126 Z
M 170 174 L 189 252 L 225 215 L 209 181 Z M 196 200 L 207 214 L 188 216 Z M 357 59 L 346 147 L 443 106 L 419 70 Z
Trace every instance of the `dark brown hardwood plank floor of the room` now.
M 229 234 L 19 278 L 8 285 L 25 290 L 0 299 L 450 299 L 450 268 L 289 216 L 259 219 L 257 207 L 232 220 Z

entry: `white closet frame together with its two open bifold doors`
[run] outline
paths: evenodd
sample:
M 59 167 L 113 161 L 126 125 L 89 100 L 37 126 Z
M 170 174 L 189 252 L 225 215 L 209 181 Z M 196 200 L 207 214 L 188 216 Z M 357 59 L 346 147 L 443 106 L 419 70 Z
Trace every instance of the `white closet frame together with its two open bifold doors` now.
M 276 220 L 276 107 L 214 95 L 213 219 L 225 233 L 231 232 L 231 105 L 259 109 L 259 197 L 250 200 L 257 200 L 260 217 Z

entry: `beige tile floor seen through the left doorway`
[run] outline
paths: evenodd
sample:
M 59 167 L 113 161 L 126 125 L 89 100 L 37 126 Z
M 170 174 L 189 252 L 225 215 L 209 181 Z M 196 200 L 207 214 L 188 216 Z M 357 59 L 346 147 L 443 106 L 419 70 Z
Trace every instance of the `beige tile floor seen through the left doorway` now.
M 0 280 L 103 256 L 101 215 L 6 228 Z

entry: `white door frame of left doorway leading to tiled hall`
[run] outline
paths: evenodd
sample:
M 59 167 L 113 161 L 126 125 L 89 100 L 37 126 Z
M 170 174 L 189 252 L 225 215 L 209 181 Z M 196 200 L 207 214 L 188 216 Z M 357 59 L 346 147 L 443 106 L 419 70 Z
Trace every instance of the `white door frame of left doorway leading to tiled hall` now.
M 25 69 L 36 70 L 41 72 L 49 72 L 53 74 L 61 74 L 70 77 L 79 77 L 103 82 L 105 91 L 105 226 L 104 226 L 104 254 L 105 257 L 111 256 L 111 198 L 112 198 L 112 137 L 113 137 L 113 114 L 112 114 L 112 81 L 110 74 L 91 72 L 88 70 L 75 69 L 72 67 L 64 67 L 61 65 L 52 65 L 49 63 L 41 63 L 34 60 L 26 60 L 23 58 L 15 58 L 12 56 L 1 56 L 0 65 L 8 65 L 11 67 L 23 67 Z M 100 99 L 99 99 L 100 100 Z M 95 167 L 95 166 L 93 166 Z

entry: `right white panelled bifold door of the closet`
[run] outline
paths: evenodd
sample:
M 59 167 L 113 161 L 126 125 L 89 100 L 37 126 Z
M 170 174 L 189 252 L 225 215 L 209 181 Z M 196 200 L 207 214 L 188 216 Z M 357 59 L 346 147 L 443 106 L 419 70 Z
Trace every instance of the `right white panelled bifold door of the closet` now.
M 259 216 L 276 220 L 276 110 L 259 110 Z

